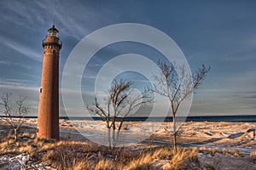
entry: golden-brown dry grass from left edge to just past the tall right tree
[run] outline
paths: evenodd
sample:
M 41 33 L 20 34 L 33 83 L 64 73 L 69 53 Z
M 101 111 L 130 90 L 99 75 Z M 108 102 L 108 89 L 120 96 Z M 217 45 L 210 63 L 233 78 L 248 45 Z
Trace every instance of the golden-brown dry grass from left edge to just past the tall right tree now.
M 0 143 L 1 155 L 25 153 L 34 161 L 49 163 L 56 169 L 155 169 L 158 161 L 166 160 L 168 167 L 180 169 L 185 162 L 196 159 L 196 150 L 170 148 L 131 151 L 74 141 L 46 141 L 23 134 L 26 139 L 15 142 L 13 136 Z

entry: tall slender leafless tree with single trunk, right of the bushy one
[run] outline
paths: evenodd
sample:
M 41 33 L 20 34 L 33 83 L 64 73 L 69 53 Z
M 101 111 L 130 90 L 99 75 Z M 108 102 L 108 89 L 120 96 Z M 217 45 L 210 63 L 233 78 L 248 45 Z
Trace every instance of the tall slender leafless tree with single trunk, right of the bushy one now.
M 172 127 L 173 127 L 173 150 L 177 151 L 177 127 L 176 114 L 183 100 L 189 97 L 206 77 L 211 67 L 202 65 L 195 73 L 190 76 L 185 70 L 184 65 L 177 66 L 176 63 L 168 65 L 166 62 L 158 60 L 157 65 L 160 67 L 160 73 L 154 75 L 156 83 L 153 85 L 154 93 L 165 96 L 172 109 Z M 179 71 L 180 75 L 177 75 Z

